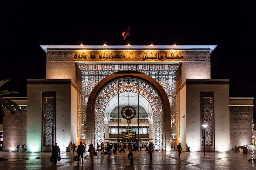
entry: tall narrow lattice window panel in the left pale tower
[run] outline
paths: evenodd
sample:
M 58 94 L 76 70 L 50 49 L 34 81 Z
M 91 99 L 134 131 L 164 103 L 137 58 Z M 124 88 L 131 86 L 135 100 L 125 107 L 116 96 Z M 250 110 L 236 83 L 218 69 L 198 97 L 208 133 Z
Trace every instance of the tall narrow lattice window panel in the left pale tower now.
M 43 146 L 51 146 L 52 137 L 55 136 L 52 129 L 55 125 L 54 101 L 54 97 L 43 97 Z

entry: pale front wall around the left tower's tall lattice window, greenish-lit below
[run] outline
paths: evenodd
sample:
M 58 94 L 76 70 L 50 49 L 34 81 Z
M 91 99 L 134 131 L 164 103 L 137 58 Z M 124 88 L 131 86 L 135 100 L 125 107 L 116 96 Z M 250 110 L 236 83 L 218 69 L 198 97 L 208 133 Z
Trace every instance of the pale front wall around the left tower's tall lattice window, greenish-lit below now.
M 42 92 L 56 92 L 56 142 L 61 151 L 65 151 L 71 141 L 71 84 L 43 82 L 27 85 L 27 151 L 41 152 L 42 149 Z

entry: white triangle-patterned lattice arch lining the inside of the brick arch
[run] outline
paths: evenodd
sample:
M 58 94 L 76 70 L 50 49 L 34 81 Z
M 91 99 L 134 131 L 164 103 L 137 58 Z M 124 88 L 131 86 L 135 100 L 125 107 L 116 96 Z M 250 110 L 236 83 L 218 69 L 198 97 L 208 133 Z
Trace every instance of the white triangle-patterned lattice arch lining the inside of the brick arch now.
M 135 79 L 112 82 L 100 93 L 95 105 L 95 143 L 104 141 L 104 113 L 108 102 L 117 94 L 133 92 L 143 96 L 153 111 L 153 142 L 162 149 L 162 104 L 155 90 L 148 84 Z

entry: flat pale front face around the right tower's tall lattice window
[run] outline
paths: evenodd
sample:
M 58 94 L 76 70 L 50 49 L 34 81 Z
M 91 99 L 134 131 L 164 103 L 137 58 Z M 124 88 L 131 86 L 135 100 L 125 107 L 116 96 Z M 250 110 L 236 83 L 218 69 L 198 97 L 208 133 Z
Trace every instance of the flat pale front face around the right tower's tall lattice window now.
M 229 85 L 186 84 L 186 142 L 191 151 L 201 148 L 201 92 L 215 92 L 215 151 L 229 152 Z

